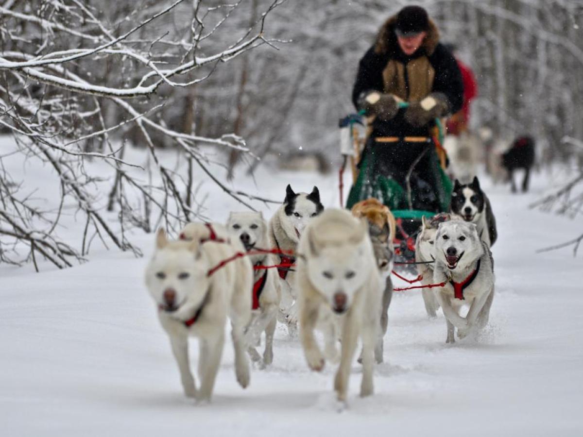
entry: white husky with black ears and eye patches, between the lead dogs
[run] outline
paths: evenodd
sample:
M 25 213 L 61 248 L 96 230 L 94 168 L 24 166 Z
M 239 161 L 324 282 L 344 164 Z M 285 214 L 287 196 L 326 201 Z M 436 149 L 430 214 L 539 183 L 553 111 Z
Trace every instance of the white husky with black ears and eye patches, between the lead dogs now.
M 310 220 L 324 210 L 320 202 L 320 193 L 314 186 L 311 193 L 296 193 L 290 185 L 286 187 L 286 198 L 283 205 L 273 214 L 269 221 L 269 239 L 272 248 L 295 252 L 300 236 Z M 280 255 L 280 263 L 293 264 L 293 255 Z M 287 323 L 290 334 L 297 330 L 297 292 L 295 288 L 293 269 L 279 269 L 282 299 L 278 319 Z

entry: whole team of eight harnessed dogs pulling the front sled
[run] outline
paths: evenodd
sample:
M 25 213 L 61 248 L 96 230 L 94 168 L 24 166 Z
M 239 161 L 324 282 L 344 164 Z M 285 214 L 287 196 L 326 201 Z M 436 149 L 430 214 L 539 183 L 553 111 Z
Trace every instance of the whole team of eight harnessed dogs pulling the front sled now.
M 352 213 L 324 210 L 316 187 L 296 193 L 289 185 L 269 222 L 261 213 L 233 212 L 226 225 L 189 223 L 176 240 L 160 229 L 145 279 L 170 337 L 185 395 L 210 400 L 227 318 L 241 387 L 250 382 L 247 355 L 259 368 L 272 363 L 279 321 L 290 334 L 299 329 L 311 369 L 321 371 L 326 361 L 338 364 L 334 389 L 339 401 L 346 401 L 360 339 L 360 395 L 372 394 L 373 361 L 382 362 L 393 291 L 394 237 L 395 218 L 376 199 L 357 203 Z M 488 321 L 494 241 L 496 223 L 477 178 L 467 185 L 456 181 L 451 214 L 423 218 L 416 261 L 434 261 L 419 264 L 419 273 L 422 284 L 439 284 L 424 288 L 423 299 L 429 316 L 441 306 L 447 343 L 454 343 L 455 327 L 463 338 Z M 469 311 L 462 317 L 464 305 Z M 324 336 L 323 350 L 315 330 Z M 190 336 L 199 339 L 199 387 L 189 363 Z

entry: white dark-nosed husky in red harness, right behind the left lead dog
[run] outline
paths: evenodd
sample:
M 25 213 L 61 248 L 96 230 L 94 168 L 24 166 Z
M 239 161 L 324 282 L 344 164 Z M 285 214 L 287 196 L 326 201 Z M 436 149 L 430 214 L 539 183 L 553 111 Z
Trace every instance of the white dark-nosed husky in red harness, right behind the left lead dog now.
M 260 212 L 230 213 L 227 220 L 227 230 L 233 238 L 240 239 L 247 252 L 257 249 L 269 249 L 267 222 Z M 277 263 L 276 256 L 269 253 L 258 253 L 248 257 L 255 267 L 272 266 Z M 252 295 L 254 310 L 251 324 L 247 328 L 246 340 L 250 345 L 248 353 L 251 360 L 259 362 L 261 368 L 273 361 L 273 333 L 277 324 L 277 313 L 281 298 L 279 275 L 275 269 L 255 269 Z M 263 360 L 255 350 L 254 345 L 261 339 L 265 331 L 265 351 Z

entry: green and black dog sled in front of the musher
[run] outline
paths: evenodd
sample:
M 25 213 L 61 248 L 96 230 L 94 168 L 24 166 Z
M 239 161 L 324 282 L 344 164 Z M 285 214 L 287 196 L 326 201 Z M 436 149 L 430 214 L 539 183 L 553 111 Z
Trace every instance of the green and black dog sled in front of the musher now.
M 415 239 L 422 217 L 447 212 L 451 201 L 453 187 L 444 171 L 447 156 L 441 147 L 441 124 L 437 123 L 435 135 L 427 137 L 366 138 L 361 114 L 351 114 L 340 120 L 339 127 L 340 204 L 342 174 L 349 161 L 353 185 L 346 208 L 368 198 L 387 206 L 396 221 L 395 263 L 400 270 L 415 270 Z

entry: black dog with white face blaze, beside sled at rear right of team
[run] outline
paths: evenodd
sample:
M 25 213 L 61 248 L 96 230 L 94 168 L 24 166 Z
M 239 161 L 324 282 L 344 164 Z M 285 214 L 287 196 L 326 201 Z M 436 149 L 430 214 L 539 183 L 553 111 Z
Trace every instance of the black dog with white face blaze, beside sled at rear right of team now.
M 490 200 L 480 188 L 480 181 L 475 176 L 470 184 L 460 184 L 455 179 L 454 192 L 451 193 L 451 212 L 464 221 L 473 223 L 477 233 L 491 247 L 498 238 L 496 218 L 492 212 Z

